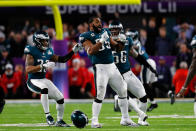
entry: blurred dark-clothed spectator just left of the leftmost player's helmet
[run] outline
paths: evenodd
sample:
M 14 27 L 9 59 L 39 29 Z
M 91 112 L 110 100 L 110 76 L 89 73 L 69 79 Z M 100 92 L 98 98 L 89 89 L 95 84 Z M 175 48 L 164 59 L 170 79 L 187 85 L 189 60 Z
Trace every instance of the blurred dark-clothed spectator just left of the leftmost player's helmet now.
M 10 39 L 11 57 L 22 57 L 24 55 L 24 48 L 26 45 L 26 38 L 22 37 L 22 34 L 17 32 L 14 34 L 14 37 Z

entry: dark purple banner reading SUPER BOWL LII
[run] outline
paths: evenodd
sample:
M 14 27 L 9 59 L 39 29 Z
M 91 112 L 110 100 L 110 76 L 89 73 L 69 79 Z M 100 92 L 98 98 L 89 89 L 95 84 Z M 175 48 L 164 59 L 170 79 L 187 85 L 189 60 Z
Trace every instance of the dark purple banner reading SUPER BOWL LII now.
M 182 2 L 181 2 L 182 3 Z M 143 2 L 141 5 L 107 5 L 107 6 L 60 6 L 61 14 L 92 14 L 92 13 L 177 13 L 178 8 L 181 3 L 177 1 L 167 1 L 167 2 Z M 52 14 L 52 9 L 46 7 L 46 14 Z

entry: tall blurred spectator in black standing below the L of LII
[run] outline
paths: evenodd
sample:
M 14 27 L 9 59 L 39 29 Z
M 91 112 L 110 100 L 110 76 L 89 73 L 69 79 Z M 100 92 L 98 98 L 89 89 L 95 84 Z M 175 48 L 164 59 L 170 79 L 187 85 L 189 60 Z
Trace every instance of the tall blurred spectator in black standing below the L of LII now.
M 146 52 L 149 55 L 155 55 L 155 40 L 158 36 L 158 29 L 156 26 L 156 19 L 150 18 L 147 26 L 147 42 L 145 45 Z

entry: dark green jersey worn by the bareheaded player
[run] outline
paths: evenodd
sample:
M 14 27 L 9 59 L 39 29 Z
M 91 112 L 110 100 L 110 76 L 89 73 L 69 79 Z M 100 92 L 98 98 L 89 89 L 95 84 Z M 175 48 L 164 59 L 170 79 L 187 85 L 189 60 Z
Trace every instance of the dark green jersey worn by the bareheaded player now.
M 101 38 L 101 35 L 107 31 L 108 35 L 111 36 L 110 31 L 106 28 L 103 28 L 100 33 L 96 33 L 94 31 L 84 32 L 80 35 L 80 42 L 84 43 L 86 40 L 92 42 L 92 44 L 96 44 L 97 41 Z M 110 46 L 110 38 L 108 38 L 102 47 L 99 49 L 99 52 L 94 55 L 88 55 L 92 64 L 110 64 L 114 62 L 114 58 L 112 56 L 112 50 Z

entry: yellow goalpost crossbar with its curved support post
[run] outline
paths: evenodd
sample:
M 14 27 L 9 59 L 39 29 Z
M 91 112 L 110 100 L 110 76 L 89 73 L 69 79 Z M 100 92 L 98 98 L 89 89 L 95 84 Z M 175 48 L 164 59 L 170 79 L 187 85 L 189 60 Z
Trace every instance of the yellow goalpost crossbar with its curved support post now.
M 141 4 L 141 0 L 0 0 L 0 7 L 51 6 L 56 30 L 56 39 L 63 40 L 63 26 L 59 5 L 125 5 Z

